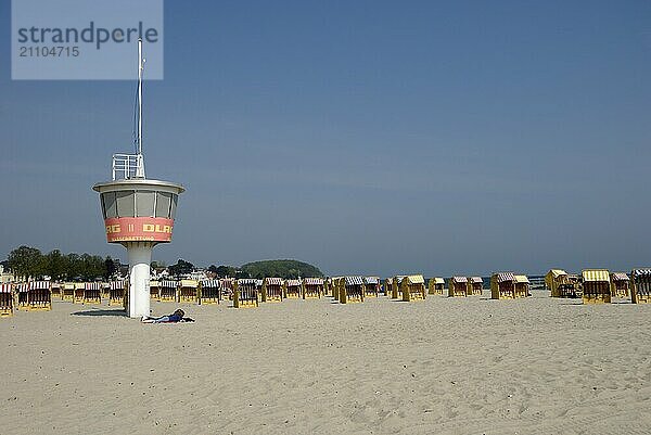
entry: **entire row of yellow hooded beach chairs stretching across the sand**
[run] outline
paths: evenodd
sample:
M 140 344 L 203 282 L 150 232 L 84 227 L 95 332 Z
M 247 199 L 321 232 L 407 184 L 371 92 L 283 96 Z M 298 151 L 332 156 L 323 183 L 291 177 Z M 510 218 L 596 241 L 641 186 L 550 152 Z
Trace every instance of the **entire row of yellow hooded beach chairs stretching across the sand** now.
M 651 303 L 651 268 L 634 269 L 630 277 L 605 269 L 586 269 L 580 276 L 552 269 L 545 277 L 552 297 L 580 297 L 584 303 L 610 303 L 612 297 L 628 297 L 634 304 Z M 454 276 L 448 280 L 449 297 L 481 295 L 481 277 Z M 490 277 L 493 299 L 516 299 L 531 296 L 529 281 L 524 274 L 497 272 Z M 219 304 L 231 299 L 235 308 L 257 307 L 259 303 L 282 302 L 285 298 L 310 299 L 326 295 L 341 304 L 362 303 L 384 293 L 393 299 L 424 300 L 426 295 L 443 295 L 445 280 L 431 278 L 425 286 L 422 274 L 396 276 L 382 283 L 379 277 L 334 277 L 283 280 L 281 278 L 162 280 L 151 281 L 151 298 L 158 302 Z M 14 310 L 50 310 L 52 298 L 75 304 L 126 306 L 128 281 L 56 283 L 30 281 L 0 284 L 0 317 Z

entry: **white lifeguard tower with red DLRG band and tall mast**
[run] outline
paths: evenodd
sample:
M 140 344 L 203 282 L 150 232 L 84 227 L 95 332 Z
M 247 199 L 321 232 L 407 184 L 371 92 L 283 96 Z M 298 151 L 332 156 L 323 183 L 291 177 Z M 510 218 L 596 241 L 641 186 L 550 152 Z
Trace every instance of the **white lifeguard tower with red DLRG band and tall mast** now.
M 144 176 L 142 155 L 142 40 L 138 40 L 138 133 L 136 154 L 113 155 L 113 179 L 92 189 L 100 193 L 108 243 L 119 243 L 129 256 L 129 317 L 150 315 L 150 264 L 158 243 L 171 242 L 181 184 Z

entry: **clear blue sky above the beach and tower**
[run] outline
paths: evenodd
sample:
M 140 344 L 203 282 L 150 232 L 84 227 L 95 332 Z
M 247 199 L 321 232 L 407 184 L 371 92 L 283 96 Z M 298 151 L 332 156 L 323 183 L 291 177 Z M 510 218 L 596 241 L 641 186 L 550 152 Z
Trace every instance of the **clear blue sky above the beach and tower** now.
M 12 80 L 10 28 L 2 0 L 0 259 L 126 261 L 91 187 L 132 149 L 136 82 Z M 651 265 L 649 1 L 167 0 L 164 30 L 144 155 L 187 192 L 153 259 Z

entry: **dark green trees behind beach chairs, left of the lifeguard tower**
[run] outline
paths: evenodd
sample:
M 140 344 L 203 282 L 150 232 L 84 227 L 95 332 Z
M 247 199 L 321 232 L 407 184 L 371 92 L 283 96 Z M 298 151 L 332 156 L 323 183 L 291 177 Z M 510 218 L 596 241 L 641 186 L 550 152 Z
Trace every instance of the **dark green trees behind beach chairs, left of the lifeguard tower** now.
M 36 247 L 23 245 L 9 254 L 7 265 L 16 278 L 94 281 L 110 279 L 119 268 L 119 260 L 86 253 L 63 254 L 59 250 L 42 254 Z

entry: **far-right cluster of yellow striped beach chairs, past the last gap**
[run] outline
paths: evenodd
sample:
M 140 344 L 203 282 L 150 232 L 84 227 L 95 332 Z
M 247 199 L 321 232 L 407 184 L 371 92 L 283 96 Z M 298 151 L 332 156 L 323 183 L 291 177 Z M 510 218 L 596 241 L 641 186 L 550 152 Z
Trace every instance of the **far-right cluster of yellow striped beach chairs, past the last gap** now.
M 586 304 L 610 304 L 613 297 L 634 304 L 651 303 L 651 268 L 634 269 L 630 277 L 607 269 L 586 269 L 580 276 L 551 269 L 545 276 L 551 297 L 580 297 Z

